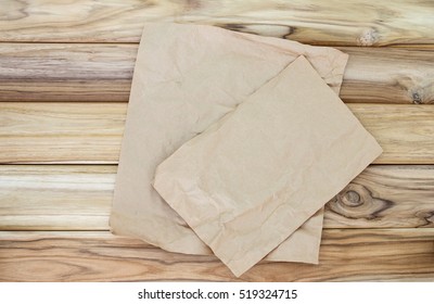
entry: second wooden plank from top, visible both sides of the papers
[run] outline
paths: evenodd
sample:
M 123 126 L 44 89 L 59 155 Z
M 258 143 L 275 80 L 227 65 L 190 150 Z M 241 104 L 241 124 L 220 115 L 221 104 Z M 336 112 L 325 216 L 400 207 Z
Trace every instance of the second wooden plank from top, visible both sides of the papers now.
M 128 101 L 138 45 L 1 43 L 0 101 Z M 345 102 L 434 103 L 434 49 L 340 48 Z

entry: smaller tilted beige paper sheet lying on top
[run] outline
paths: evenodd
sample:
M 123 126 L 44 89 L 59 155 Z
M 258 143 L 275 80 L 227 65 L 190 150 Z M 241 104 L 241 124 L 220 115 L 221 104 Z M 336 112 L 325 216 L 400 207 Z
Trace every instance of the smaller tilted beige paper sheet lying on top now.
M 381 151 L 299 56 L 163 162 L 154 187 L 240 276 Z

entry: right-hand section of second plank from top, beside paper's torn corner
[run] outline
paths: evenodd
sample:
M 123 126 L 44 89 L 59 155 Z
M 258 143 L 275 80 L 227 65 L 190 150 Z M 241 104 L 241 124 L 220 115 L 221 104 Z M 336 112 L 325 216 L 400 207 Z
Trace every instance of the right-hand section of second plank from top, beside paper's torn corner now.
M 340 49 L 349 54 L 345 102 L 434 103 L 434 49 Z

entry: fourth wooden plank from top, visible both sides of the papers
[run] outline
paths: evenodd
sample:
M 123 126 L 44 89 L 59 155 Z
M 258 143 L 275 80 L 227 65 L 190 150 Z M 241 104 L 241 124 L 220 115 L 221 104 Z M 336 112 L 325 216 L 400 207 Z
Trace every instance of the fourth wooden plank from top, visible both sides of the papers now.
M 116 166 L 0 166 L 0 230 L 108 230 Z M 324 228 L 434 228 L 434 166 L 373 165 L 327 205 Z

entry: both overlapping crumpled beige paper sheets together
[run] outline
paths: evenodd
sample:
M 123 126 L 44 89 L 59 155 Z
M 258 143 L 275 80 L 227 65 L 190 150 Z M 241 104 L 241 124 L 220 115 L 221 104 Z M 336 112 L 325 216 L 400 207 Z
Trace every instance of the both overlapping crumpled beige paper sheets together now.
M 318 263 L 323 205 L 381 153 L 337 97 L 346 61 L 284 39 L 148 24 L 113 232 L 214 253 L 237 276 L 261 258 Z

